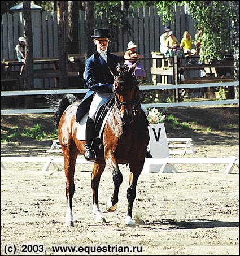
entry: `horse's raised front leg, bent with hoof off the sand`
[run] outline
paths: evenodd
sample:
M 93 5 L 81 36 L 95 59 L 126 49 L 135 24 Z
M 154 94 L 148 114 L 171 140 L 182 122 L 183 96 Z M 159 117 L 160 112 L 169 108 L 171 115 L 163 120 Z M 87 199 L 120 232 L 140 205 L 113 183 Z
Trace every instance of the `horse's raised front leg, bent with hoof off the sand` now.
M 106 209 L 108 212 L 114 212 L 117 209 L 117 202 L 119 201 L 119 188 L 123 183 L 123 175 L 119 170 L 119 166 L 114 157 L 108 158 L 107 163 L 112 170 L 112 179 L 114 181 L 114 193 L 112 197 L 106 202 Z

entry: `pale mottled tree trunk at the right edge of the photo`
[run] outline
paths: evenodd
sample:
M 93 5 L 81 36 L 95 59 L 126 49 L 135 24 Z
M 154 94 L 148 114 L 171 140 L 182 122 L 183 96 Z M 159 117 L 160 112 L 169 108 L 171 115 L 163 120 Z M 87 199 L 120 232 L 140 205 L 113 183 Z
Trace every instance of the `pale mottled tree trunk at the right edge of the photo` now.
M 239 2 L 230 1 L 232 9 L 232 38 L 234 55 L 234 81 L 239 81 Z M 235 86 L 235 99 L 239 99 L 239 86 Z

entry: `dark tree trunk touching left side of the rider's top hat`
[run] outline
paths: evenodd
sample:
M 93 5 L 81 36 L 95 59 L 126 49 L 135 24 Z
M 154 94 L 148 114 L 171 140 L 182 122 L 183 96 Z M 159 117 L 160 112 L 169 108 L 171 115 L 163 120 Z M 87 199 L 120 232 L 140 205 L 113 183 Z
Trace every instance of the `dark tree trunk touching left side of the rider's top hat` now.
M 86 59 L 94 53 L 93 34 L 94 29 L 94 1 L 86 1 Z

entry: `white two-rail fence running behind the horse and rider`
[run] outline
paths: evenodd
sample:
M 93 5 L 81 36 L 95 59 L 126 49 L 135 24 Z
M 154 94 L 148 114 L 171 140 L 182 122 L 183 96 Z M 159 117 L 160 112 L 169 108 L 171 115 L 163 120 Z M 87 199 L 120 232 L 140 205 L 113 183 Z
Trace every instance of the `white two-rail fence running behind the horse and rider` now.
M 239 82 L 227 83 L 207 83 L 207 84 L 180 84 L 180 85 L 145 85 L 139 86 L 140 90 L 164 90 L 164 89 L 181 89 L 181 88 L 206 88 L 206 87 L 225 87 L 239 86 Z M 1 96 L 24 96 L 24 95 L 47 95 L 47 94 L 67 94 L 67 93 L 86 93 L 89 89 L 62 89 L 62 90 L 24 90 L 1 92 Z M 239 99 L 227 99 L 221 101 L 193 101 L 193 102 L 176 102 L 176 103 L 149 103 L 143 104 L 145 107 L 187 107 L 203 105 L 225 105 L 239 104 Z M 7 109 L 1 110 L 3 114 L 30 114 L 30 113 L 49 113 L 54 109 Z

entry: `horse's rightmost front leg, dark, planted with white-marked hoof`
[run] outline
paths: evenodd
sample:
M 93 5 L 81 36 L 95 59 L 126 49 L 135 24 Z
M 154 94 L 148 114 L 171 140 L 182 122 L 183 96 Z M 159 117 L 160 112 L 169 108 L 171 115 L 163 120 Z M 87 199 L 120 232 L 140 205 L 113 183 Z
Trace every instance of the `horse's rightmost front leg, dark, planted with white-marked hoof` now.
M 143 164 L 141 166 L 143 167 Z M 126 194 L 126 197 L 128 198 L 128 213 L 125 217 L 125 223 L 126 223 L 126 227 L 135 228 L 136 225 L 132 219 L 133 202 L 136 198 L 137 181 L 142 171 L 142 168 L 139 166 L 138 167 L 135 166 L 133 168 L 131 164 L 129 164 L 129 168 L 130 168 L 129 187 Z

